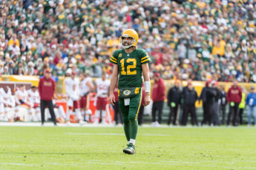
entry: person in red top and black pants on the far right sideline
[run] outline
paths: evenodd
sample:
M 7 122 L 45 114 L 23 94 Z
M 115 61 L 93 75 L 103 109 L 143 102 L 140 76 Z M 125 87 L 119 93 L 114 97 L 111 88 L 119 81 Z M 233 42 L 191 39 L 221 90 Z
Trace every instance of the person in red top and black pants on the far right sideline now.
M 229 102 L 227 126 L 229 126 L 231 117 L 232 125 L 237 126 L 238 106 L 242 100 L 242 90 L 240 86 L 238 86 L 237 80 L 234 80 L 233 85 L 229 88 L 229 91 L 226 94 L 226 100 Z

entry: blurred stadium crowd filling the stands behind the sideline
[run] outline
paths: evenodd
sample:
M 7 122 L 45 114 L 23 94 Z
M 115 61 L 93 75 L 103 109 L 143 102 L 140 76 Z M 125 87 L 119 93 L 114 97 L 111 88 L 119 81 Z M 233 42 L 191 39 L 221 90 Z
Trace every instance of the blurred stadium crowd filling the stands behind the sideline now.
M 111 76 L 123 30 L 140 35 L 151 78 L 256 82 L 255 1 L 0 1 L 1 75 Z

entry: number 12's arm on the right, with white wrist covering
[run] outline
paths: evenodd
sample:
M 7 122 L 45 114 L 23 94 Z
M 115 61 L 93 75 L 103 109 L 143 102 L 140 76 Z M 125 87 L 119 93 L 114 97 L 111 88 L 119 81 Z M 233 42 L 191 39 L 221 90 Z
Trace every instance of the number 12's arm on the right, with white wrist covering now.
M 144 106 L 148 106 L 148 104 L 150 103 L 150 78 L 149 78 L 148 63 L 142 64 L 142 73 L 143 73 L 144 84 L 145 84 Z

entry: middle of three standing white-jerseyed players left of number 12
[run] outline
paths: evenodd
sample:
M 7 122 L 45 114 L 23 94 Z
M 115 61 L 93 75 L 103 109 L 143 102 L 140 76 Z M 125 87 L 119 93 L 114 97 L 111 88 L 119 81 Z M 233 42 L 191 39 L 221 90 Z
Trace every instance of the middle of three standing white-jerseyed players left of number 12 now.
M 88 77 L 86 73 L 81 73 L 81 83 L 80 83 L 80 108 L 82 116 L 85 116 L 85 121 L 89 121 L 91 115 L 91 109 L 89 109 L 90 103 L 90 92 L 93 90 L 94 86 L 92 79 Z

